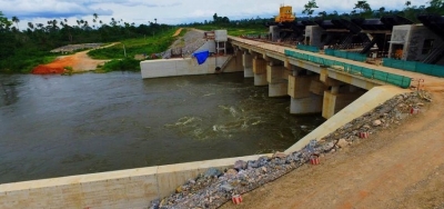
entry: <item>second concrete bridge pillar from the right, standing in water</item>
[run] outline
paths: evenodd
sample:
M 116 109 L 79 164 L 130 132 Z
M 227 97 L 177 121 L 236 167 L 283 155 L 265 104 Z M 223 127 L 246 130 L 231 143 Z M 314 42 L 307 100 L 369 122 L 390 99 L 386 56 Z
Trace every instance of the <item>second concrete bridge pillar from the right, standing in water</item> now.
M 310 91 L 317 76 L 289 76 L 290 113 L 317 113 L 322 111 L 323 97 Z

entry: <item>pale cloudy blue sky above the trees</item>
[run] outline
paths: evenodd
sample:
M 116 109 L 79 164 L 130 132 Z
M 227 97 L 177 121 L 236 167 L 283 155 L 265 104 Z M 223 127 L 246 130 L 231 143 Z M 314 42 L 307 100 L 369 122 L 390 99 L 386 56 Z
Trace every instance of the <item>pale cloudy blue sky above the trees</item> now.
M 406 0 L 367 0 L 373 10 L 402 10 Z M 411 0 L 412 6 L 426 6 L 428 0 Z M 148 24 L 157 19 L 158 23 L 179 24 L 212 20 L 213 14 L 230 20 L 250 18 L 273 18 L 281 4 L 292 6 L 293 12 L 302 16 L 309 0 L 0 0 L 0 11 L 11 19 L 18 17 L 19 28 L 26 29 L 28 22 L 47 24 L 48 20 L 87 20 L 93 24 L 93 13 L 98 21 L 109 23 L 111 18 L 135 26 Z M 353 10 L 357 0 L 316 0 L 320 11 L 327 13 L 336 10 L 340 14 Z

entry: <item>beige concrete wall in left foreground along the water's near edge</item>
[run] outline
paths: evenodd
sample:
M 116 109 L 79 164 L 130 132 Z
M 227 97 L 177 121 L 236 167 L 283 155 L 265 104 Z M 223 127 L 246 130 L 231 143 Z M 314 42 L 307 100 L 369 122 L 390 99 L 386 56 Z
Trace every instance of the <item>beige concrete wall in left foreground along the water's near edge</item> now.
M 0 208 L 148 208 L 151 200 L 169 196 L 178 186 L 211 167 L 224 169 L 232 167 L 236 160 L 255 160 L 259 157 L 4 183 L 0 185 Z

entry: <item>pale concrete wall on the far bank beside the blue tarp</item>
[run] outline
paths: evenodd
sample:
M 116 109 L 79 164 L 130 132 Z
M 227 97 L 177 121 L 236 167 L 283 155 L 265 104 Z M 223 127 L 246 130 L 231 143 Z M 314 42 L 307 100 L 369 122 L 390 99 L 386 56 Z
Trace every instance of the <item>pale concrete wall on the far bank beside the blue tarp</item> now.
M 230 56 L 210 57 L 202 64 L 198 64 L 195 58 L 159 59 L 140 62 L 142 78 L 176 77 L 190 74 L 209 74 L 215 72 L 215 67 L 221 67 Z M 231 59 L 230 62 L 236 59 Z M 224 72 L 243 71 L 236 64 L 228 63 Z

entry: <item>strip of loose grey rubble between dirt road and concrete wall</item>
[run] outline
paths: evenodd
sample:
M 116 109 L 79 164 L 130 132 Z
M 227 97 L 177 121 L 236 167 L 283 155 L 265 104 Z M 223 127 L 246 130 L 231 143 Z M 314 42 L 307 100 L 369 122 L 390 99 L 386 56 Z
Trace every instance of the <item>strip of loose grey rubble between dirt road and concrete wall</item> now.
M 242 195 L 306 163 L 311 157 L 334 153 L 359 140 L 372 138 L 375 132 L 398 126 L 402 121 L 427 106 L 432 99 L 426 92 L 411 92 L 396 96 L 374 110 L 354 119 L 336 131 L 312 140 L 304 149 L 285 155 L 276 152 L 258 160 L 234 163 L 223 172 L 210 168 L 195 179 L 176 188 L 175 193 L 152 201 L 151 208 L 218 208 L 230 201 L 233 195 Z

